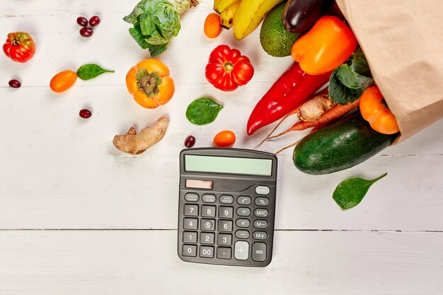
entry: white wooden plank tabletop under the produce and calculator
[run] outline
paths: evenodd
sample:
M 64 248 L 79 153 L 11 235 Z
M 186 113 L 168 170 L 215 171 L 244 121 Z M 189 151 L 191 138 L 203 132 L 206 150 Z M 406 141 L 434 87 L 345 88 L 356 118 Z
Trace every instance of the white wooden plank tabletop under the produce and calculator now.
M 253 105 L 291 63 L 261 49 L 258 30 L 243 41 L 231 31 L 202 33 L 212 1 L 182 21 L 159 59 L 168 64 L 176 94 L 146 110 L 125 88 L 125 74 L 148 57 L 122 17 L 137 1 L 2 0 L 0 36 L 28 31 L 37 52 L 26 64 L 0 54 L 0 294 L 443 294 L 443 122 L 361 165 L 332 175 L 305 175 L 291 150 L 279 155 L 273 260 L 265 268 L 182 262 L 176 254 L 178 153 L 188 134 L 210 146 L 222 129 L 236 147 L 253 148 L 269 129 L 246 137 Z M 79 15 L 102 19 L 81 38 Z M 205 80 L 209 52 L 219 44 L 251 58 L 255 76 L 224 93 Z M 115 74 L 77 81 L 54 94 L 51 77 L 95 62 Z M 9 88 L 10 79 L 23 86 Z M 224 103 L 217 120 L 191 125 L 185 108 L 195 98 Z M 79 117 L 90 108 L 93 116 Z M 146 153 L 118 152 L 112 139 L 161 115 L 166 137 Z M 277 151 L 292 134 L 263 145 Z M 376 183 L 359 206 L 343 212 L 331 198 L 352 176 Z

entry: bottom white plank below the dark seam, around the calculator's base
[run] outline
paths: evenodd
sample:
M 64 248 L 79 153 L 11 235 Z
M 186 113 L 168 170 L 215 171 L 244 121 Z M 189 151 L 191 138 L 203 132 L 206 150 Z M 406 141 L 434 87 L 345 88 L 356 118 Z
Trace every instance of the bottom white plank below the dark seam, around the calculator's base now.
M 277 231 L 264 268 L 182 262 L 176 231 L 0 232 L 2 295 L 440 295 L 443 234 Z

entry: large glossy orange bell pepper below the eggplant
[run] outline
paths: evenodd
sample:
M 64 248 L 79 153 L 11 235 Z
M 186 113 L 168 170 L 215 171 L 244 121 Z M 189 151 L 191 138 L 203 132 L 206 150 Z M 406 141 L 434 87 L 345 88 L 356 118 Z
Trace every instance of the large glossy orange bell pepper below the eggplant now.
M 333 71 L 351 56 L 358 42 L 352 30 L 336 16 L 322 16 L 292 45 L 292 58 L 308 74 Z

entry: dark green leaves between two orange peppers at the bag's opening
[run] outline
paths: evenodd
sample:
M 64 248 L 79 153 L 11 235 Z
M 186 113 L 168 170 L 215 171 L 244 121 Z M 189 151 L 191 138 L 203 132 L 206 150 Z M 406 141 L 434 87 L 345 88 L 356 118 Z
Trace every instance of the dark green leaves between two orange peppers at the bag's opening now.
M 359 48 L 330 75 L 329 95 L 335 103 L 346 105 L 357 100 L 373 83 L 369 65 Z

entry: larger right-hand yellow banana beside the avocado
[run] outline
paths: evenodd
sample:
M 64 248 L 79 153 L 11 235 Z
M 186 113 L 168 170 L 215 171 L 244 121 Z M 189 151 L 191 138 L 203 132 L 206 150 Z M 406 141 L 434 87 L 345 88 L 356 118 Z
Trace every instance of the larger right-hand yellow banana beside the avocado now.
M 241 40 L 251 34 L 267 13 L 282 0 L 242 0 L 234 16 L 234 37 Z

